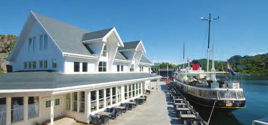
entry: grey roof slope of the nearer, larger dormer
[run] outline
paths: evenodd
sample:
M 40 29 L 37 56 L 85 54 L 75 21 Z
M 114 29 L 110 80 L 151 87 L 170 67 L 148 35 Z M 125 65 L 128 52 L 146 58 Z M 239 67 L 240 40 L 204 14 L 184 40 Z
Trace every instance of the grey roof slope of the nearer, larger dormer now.
M 112 28 L 86 33 L 83 35 L 82 41 L 89 41 L 89 40 L 104 38 L 111 30 Z

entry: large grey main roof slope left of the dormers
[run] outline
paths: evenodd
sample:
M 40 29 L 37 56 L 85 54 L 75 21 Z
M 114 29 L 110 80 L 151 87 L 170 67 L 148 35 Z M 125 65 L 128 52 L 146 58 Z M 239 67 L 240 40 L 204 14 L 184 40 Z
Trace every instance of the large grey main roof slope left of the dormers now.
M 32 14 L 49 33 L 62 52 L 96 56 L 81 43 L 83 35 L 89 33 L 89 31 L 35 12 L 32 12 Z

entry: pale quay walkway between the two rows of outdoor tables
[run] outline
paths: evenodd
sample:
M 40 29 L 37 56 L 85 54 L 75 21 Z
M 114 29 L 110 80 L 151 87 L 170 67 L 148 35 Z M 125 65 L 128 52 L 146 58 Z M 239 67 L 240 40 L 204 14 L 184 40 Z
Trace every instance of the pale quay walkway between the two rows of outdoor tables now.
M 167 85 L 160 82 L 159 91 L 156 83 L 152 95 L 147 95 L 147 102 L 132 111 L 123 113 L 116 120 L 110 120 L 108 125 L 179 125 L 178 116 L 170 102 Z

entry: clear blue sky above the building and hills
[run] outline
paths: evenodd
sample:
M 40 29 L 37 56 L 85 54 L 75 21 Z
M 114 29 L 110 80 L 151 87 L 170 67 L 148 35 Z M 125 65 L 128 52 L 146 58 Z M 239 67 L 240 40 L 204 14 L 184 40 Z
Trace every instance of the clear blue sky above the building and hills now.
M 30 10 L 88 31 L 115 27 L 123 42 L 142 40 L 154 62 L 206 58 L 211 42 L 216 60 L 268 52 L 268 0 L 3 0 L 0 34 L 19 35 Z

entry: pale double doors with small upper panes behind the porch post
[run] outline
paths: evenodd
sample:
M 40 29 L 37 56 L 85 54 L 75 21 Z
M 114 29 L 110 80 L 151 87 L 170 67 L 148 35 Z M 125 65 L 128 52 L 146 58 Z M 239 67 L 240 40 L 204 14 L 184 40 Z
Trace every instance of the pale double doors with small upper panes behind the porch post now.
M 44 121 L 50 120 L 50 98 L 44 98 L 43 99 L 43 106 L 44 106 Z M 56 96 L 54 97 L 54 118 L 60 117 L 63 115 L 62 111 L 63 106 L 63 97 L 62 96 Z

